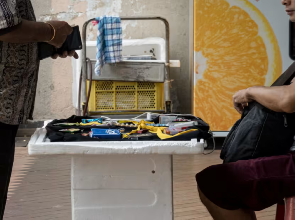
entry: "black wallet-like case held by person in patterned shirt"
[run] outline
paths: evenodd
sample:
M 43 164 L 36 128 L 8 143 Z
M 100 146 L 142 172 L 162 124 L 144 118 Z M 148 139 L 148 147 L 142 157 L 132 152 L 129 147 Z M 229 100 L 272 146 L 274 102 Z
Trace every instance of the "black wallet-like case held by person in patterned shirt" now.
M 39 58 L 44 60 L 55 54 L 62 55 L 64 51 L 77 51 L 82 49 L 82 40 L 80 35 L 79 26 L 73 27 L 73 32 L 67 37 L 61 48 L 55 48 L 49 43 L 38 43 Z

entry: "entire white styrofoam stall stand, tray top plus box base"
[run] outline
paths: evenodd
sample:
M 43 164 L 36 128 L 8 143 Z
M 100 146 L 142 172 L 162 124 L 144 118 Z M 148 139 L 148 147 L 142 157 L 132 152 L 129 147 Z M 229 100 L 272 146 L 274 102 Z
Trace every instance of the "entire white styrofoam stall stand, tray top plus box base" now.
M 72 155 L 73 220 L 173 220 L 171 155 L 202 154 L 204 140 L 49 142 L 38 128 L 28 150 Z

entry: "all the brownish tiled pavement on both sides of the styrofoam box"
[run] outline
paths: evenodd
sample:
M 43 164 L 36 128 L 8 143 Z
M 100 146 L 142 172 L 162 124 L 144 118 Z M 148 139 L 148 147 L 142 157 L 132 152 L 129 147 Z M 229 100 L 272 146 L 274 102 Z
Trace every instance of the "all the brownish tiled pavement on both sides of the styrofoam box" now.
M 174 220 L 212 220 L 194 175 L 220 163 L 219 152 L 173 158 Z M 4 220 L 71 220 L 70 164 L 70 157 L 30 157 L 26 147 L 17 147 Z M 275 209 L 258 212 L 258 220 L 274 220 Z

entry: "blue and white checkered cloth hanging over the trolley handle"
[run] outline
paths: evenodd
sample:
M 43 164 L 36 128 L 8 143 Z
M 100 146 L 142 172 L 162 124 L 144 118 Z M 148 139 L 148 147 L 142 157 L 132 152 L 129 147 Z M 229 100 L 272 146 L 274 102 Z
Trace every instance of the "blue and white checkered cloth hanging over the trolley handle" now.
M 122 25 L 119 17 L 102 16 L 96 20 L 99 23 L 95 75 L 99 76 L 105 63 L 122 61 Z

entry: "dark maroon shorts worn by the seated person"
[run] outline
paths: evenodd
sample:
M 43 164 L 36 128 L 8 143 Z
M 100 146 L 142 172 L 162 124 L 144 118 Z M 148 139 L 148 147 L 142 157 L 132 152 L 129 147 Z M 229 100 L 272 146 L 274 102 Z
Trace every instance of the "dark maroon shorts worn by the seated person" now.
M 196 181 L 223 209 L 260 211 L 295 195 L 295 152 L 214 165 L 196 174 Z

